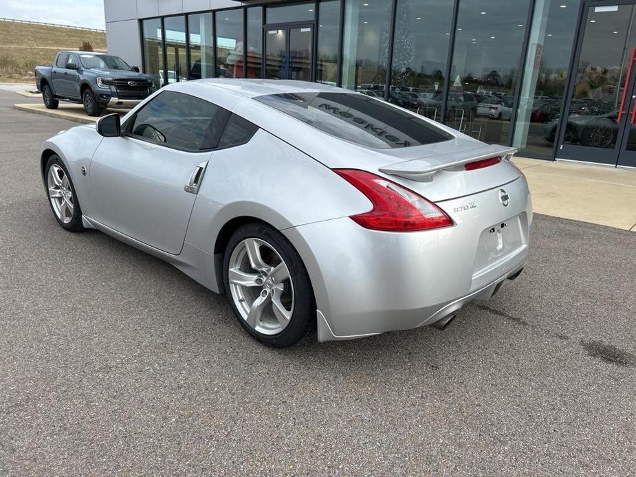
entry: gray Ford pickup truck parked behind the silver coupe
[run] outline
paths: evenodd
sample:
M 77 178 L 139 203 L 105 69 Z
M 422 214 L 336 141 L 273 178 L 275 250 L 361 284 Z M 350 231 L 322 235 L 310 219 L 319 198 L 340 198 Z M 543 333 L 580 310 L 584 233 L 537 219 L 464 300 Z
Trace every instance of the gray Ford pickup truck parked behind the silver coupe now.
M 84 105 L 89 116 L 106 108 L 135 106 L 153 91 L 153 78 L 119 56 L 94 52 L 59 52 L 52 66 L 36 66 L 35 82 L 47 109 L 59 101 Z

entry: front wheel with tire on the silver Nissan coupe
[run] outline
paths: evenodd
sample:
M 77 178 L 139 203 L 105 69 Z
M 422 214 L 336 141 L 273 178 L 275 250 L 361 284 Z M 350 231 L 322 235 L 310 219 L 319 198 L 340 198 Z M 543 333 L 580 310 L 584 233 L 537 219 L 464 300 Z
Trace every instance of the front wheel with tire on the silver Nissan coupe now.
M 82 209 L 73 181 L 62 159 L 52 155 L 44 168 L 44 181 L 49 206 L 60 227 L 69 232 L 81 232 Z

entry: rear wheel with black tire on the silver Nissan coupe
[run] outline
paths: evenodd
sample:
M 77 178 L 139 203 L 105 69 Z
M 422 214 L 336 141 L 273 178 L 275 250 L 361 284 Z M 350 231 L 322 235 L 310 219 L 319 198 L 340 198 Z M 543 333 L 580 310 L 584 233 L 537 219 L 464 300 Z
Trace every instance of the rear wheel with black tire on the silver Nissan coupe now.
M 307 269 L 292 244 L 270 225 L 248 223 L 232 234 L 223 257 L 223 285 L 241 326 L 266 346 L 292 346 L 316 330 Z

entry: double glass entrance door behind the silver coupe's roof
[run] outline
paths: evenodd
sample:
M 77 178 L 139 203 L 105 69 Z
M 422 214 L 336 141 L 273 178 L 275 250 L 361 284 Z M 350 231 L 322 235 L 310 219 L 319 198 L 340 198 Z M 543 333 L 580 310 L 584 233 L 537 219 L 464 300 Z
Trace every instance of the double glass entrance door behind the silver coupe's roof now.
M 311 25 L 265 27 L 265 78 L 311 81 Z

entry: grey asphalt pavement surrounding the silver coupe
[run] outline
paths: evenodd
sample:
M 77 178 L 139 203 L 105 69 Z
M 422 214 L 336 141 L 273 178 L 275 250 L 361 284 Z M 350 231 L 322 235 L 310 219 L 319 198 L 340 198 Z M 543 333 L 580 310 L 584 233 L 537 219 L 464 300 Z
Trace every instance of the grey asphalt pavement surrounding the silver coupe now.
M 0 91 L 0 475 L 634 475 L 635 233 L 536 215 L 524 273 L 446 331 L 274 350 L 57 225 L 40 145 L 74 124 L 26 101 Z

